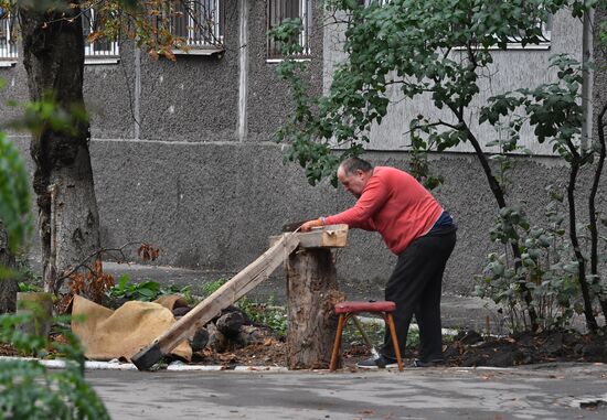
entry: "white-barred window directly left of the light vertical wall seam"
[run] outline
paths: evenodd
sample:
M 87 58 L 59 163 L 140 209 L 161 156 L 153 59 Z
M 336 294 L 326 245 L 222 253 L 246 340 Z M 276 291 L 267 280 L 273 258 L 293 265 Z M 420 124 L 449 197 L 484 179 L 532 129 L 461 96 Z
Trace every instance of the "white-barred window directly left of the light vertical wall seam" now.
M 222 51 L 225 12 L 220 0 L 182 0 L 173 3 L 170 31 L 185 40 L 190 54 Z

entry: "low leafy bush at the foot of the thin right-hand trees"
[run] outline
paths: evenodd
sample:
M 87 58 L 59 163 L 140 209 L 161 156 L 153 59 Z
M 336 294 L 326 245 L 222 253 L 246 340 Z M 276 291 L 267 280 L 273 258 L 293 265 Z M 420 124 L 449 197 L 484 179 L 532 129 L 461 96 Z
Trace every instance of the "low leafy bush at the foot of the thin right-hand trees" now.
M 507 309 L 511 331 L 529 329 L 528 304 L 521 300 L 520 287 L 524 282 L 532 293 L 532 305 L 539 315 L 543 330 L 557 330 L 568 326 L 576 313 L 583 312 L 579 301 L 579 283 L 576 281 L 577 261 L 573 258 L 566 240 L 563 222 L 563 194 L 560 189 L 546 187 L 551 202 L 546 206 L 546 227 L 530 226 L 520 208 L 503 208 L 491 238 L 497 243 L 508 243 L 512 235 L 522 257 L 522 267 L 517 271 L 509 248 L 503 252 L 491 252 L 479 277 L 476 294 L 489 298 Z M 503 219 L 510 219 L 503 223 Z M 510 230 L 518 226 L 517 230 Z

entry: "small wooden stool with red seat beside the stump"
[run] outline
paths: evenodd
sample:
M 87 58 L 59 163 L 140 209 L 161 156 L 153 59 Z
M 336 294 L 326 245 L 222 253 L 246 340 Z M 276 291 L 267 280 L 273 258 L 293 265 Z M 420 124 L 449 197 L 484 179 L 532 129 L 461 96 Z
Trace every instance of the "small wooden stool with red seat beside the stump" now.
M 341 302 L 336 304 L 336 314 L 339 315 L 338 331 L 336 332 L 336 342 L 333 343 L 333 354 L 331 355 L 330 370 L 336 370 L 338 364 L 338 356 L 341 346 L 341 334 L 343 327 L 348 323 L 350 317 L 355 316 L 356 313 L 369 312 L 379 313 L 384 319 L 386 326 L 390 329 L 392 335 L 392 343 L 394 344 L 394 354 L 396 355 L 396 363 L 398 364 L 398 370 L 403 371 L 403 360 L 401 359 L 401 349 L 398 348 L 398 341 L 396 340 L 396 329 L 394 327 L 394 319 L 392 312 L 396 309 L 396 303 L 390 301 L 380 302 Z M 354 317 L 355 319 L 355 317 Z M 356 323 L 356 326 L 360 325 Z M 364 331 L 361 330 L 363 337 L 368 341 Z M 366 343 L 371 345 L 370 342 Z

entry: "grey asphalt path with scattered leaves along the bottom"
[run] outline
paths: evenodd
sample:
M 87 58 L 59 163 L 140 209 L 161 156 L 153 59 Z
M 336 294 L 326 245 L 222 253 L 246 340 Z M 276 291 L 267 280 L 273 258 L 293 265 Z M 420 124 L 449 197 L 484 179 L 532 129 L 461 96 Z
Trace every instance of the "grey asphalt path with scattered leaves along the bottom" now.
M 382 371 L 89 370 L 115 420 L 607 419 L 607 365 Z

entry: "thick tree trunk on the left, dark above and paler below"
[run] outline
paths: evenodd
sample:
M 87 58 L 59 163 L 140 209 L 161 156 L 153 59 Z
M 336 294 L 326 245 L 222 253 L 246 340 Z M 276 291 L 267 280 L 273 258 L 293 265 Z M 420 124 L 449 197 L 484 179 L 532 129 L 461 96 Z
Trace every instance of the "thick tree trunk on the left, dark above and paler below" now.
M 23 64 L 30 98 L 52 100 L 56 111 L 84 115 L 84 35 L 78 1 L 57 9 L 19 9 Z M 55 3 L 53 3 L 55 4 Z M 61 10 L 60 10 L 61 8 Z M 99 249 L 99 217 L 88 154 L 89 125 L 74 118 L 71 130 L 45 121 L 33 130 L 31 154 L 38 196 L 44 290 L 57 292 L 62 273 Z

